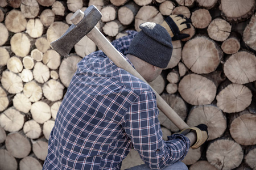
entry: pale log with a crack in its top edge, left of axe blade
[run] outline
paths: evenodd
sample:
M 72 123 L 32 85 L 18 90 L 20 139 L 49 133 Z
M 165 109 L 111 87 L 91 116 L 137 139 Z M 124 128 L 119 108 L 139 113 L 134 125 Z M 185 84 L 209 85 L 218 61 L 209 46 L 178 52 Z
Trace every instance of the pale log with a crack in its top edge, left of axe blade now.
M 40 19 L 30 19 L 27 22 L 26 33 L 32 38 L 38 38 L 43 35 L 44 25 Z

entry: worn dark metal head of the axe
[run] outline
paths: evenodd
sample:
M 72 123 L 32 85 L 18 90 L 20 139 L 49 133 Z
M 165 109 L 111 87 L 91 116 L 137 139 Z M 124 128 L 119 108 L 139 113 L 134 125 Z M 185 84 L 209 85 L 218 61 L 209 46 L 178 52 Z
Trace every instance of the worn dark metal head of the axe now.
M 73 46 L 94 28 L 102 16 L 94 5 L 89 6 L 84 14 L 84 18 L 78 24 L 72 24 L 59 39 L 51 42 L 52 48 L 61 56 L 68 57 Z

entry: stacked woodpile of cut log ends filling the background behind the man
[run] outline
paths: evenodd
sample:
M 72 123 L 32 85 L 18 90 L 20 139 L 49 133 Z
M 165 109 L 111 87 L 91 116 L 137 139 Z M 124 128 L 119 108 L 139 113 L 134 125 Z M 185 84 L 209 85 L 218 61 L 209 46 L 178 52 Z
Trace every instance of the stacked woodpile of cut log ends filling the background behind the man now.
M 102 12 L 97 27 L 110 41 L 170 14 L 190 18 L 190 36 L 172 42 L 168 67 L 151 83 L 189 126 L 209 127 L 207 143 L 183 162 L 190 170 L 256 169 L 255 0 L 1 0 L 0 169 L 42 169 L 76 64 L 97 50 L 84 37 L 63 58 L 49 42 L 90 5 Z M 159 121 L 164 138 L 179 131 L 163 113 Z M 132 150 L 122 169 L 137 158 Z

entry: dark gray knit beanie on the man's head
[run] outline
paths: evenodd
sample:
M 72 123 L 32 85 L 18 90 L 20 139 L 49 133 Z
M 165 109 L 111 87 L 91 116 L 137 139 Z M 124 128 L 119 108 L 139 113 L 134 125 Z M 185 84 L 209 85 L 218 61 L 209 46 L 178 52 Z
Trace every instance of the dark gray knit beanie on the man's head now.
M 146 22 L 139 25 L 141 31 L 131 41 L 127 54 L 162 69 L 166 68 L 172 56 L 171 36 L 164 27 Z

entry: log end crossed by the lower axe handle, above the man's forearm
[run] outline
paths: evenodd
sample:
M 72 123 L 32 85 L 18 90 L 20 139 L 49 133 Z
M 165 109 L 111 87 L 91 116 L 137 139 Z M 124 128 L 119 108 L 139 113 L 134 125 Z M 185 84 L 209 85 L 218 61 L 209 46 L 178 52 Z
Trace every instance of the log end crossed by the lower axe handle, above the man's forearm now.
M 185 120 L 185 118 L 187 117 L 188 108 L 181 97 L 170 94 L 162 94 L 161 97 L 167 102 L 168 105 L 170 105 L 172 109 L 174 109 L 174 111 L 180 116 L 182 120 Z M 158 119 L 160 124 L 167 129 L 174 132 L 179 131 L 177 126 L 175 126 L 175 124 L 172 123 L 172 121 L 169 120 L 166 115 L 160 110 Z

